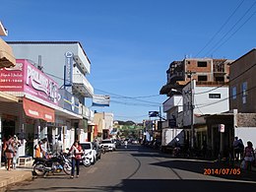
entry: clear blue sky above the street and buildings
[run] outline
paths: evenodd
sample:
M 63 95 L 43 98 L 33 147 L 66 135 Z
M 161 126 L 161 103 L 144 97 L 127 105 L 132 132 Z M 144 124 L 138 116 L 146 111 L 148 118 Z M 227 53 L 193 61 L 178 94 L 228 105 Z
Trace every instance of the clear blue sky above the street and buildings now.
M 237 59 L 256 42 L 255 0 L 2 0 L 4 40 L 77 40 L 92 62 L 95 94 L 115 119 L 141 122 L 173 60 Z M 235 11 L 236 10 L 236 11 Z M 207 46 L 206 46 L 207 45 Z

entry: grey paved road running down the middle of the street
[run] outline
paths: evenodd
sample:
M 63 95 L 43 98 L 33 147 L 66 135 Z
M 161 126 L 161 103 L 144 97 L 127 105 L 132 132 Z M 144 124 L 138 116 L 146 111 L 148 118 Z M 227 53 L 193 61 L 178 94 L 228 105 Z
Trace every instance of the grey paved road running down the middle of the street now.
M 209 161 L 171 159 L 147 148 L 129 146 L 102 155 L 91 167 L 81 166 L 80 178 L 51 175 L 9 191 L 256 191 L 255 172 L 237 175 L 233 169 L 225 175 L 230 171 L 227 168 Z

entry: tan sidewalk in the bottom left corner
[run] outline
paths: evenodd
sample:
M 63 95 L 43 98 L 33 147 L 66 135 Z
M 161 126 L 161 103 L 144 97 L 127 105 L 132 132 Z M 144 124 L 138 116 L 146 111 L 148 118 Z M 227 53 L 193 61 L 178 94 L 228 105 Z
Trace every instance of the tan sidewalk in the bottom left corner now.
M 9 185 L 32 180 L 32 168 L 17 168 L 7 171 L 5 167 L 0 168 L 0 192 L 6 191 Z

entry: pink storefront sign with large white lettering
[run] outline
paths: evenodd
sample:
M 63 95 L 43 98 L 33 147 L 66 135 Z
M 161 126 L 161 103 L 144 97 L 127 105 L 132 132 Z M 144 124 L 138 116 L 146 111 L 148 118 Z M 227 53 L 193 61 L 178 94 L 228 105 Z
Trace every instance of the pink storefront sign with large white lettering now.
M 17 65 L 0 70 L 0 91 L 25 93 L 58 104 L 58 85 L 26 59 L 17 59 Z

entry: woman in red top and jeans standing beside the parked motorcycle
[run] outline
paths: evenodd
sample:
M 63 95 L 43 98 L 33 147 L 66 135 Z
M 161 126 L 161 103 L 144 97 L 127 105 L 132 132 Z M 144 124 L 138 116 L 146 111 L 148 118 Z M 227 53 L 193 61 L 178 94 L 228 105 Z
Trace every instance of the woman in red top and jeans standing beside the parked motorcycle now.
M 72 157 L 72 169 L 71 169 L 70 178 L 74 178 L 75 168 L 77 170 L 77 178 L 78 178 L 79 177 L 80 160 L 81 160 L 82 154 L 83 154 L 83 149 L 78 141 L 74 142 L 71 149 L 69 150 L 69 154 Z

